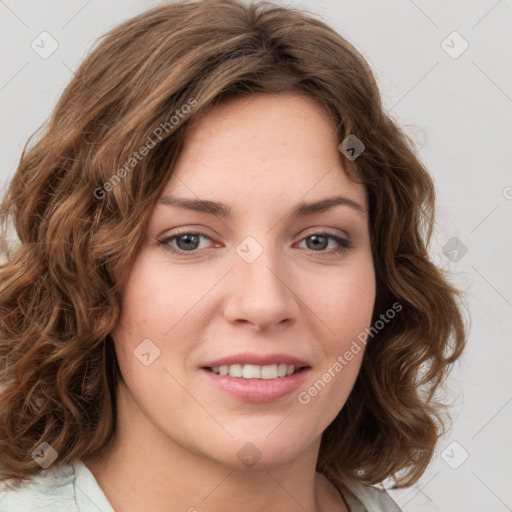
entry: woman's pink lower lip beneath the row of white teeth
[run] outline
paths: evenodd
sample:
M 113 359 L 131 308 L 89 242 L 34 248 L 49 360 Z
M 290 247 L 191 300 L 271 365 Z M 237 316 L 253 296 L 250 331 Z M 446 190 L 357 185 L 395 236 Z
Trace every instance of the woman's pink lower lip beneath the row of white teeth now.
M 297 391 L 306 380 L 309 368 L 277 379 L 244 379 L 243 377 L 229 377 L 218 375 L 205 368 L 201 368 L 215 386 L 222 391 L 245 402 L 275 402 Z

